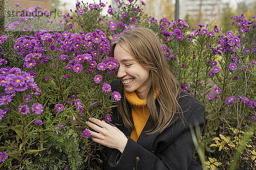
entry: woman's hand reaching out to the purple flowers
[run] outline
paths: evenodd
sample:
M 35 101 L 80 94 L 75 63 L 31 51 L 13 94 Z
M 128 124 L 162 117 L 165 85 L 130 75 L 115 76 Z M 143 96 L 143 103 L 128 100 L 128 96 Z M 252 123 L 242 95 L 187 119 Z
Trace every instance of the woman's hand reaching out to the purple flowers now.
M 86 125 L 99 132 L 96 133 L 90 130 L 91 138 L 94 142 L 117 149 L 121 153 L 123 152 L 128 141 L 124 133 L 122 133 L 117 127 L 111 126 L 99 119 L 90 118 L 89 120 L 100 126 L 99 127 L 91 122 L 85 122 Z

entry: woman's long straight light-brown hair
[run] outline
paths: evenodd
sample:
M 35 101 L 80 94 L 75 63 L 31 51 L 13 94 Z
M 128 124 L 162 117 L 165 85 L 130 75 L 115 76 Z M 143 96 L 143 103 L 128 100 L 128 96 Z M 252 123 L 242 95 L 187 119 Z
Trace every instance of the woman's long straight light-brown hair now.
M 125 45 L 128 48 L 126 52 L 128 52 L 137 63 L 149 71 L 152 84 L 147 94 L 146 101 L 150 112 L 151 126 L 145 133 L 150 135 L 156 132 L 162 132 L 169 122 L 171 122 L 175 113 L 180 111 L 180 106 L 176 99 L 177 95 L 180 93 L 180 85 L 169 70 L 169 65 L 163 55 L 160 41 L 151 29 L 135 27 L 134 29 L 129 29 L 123 34 L 120 34 L 119 37 L 111 43 L 111 57 L 114 57 L 113 54 L 117 44 L 121 47 Z M 157 111 L 155 104 L 155 89 L 159 89 L 156 100 L 160 105 L 160 112 Z M 128 105 L 130 104 L 125 100 L 124 86 L 122 83 L 119 85 L 119 92 L 122 98 L 119 101 L 119 114 L 116 115 L 116 119 L 122 120 L 122 125 L 128 129 L 132 129 L 134 128 L 134 124 L 131 111 L 128 109 Z

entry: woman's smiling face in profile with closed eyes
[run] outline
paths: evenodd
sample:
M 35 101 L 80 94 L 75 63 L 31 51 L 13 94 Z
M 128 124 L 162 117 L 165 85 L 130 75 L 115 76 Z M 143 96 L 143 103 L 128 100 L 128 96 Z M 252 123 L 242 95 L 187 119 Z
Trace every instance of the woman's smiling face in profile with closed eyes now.
M 127 47 L 122 45 L 125 50 Z M 148 92 L 152 80 L 149 78 L 149 71 L 137 63 L 120 45 L 116 45 L 114 59 L 119 62 L 117 77 L 121 79 L 127 92 L 136 93 Z

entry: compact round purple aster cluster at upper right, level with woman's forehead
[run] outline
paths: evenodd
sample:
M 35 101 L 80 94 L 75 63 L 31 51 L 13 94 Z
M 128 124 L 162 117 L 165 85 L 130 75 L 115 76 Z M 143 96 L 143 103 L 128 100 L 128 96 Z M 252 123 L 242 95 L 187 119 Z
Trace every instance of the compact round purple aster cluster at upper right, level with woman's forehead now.
M 236 37 L 232 31 L 227 31 L 226 34 L 221 34 L 218 39 L 218 43 L 221 45 L 222 53 L 236 54 L 236 48 L 240 47 L 240 39 Z

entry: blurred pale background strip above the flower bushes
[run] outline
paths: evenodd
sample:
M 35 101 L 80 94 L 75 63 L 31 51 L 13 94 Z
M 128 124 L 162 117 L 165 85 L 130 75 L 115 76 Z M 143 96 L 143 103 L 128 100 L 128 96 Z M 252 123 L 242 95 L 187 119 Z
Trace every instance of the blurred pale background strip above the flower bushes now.
M 76 9 L 77 0 L 10 0 L 9 3 L 15 6 L 18 2 L 26 9 L 31 6 L 40 5 L 42 8 L 52 11 L 61 11 L 67 14 L 70 9 Z M 93 0 L 83 0 L 84 3 L 93 3 Z M 106 4 L 103 15 L 107 14 L 108 6 L 117 8 L 118 3 L 114 0 L 101 0 Z M 168 20 L 179 18 L 186 20 L 191 27 L 197 27 L 198 23 L 209 24 L 216 21 L 216 25 L 223 28 L 223 31 L 233 30 L 230 26 L 231 16 L 245 14 L 249 19 L 256 15 L 256 0 L 144 0 L 145 13 L 160 20 L 167 17 Z M 99 0 L 95 0 L 99 3 Z M 140 3 L 140 0 L 138 0 Z M 60 15 L 61 16 L 61 15 Z

